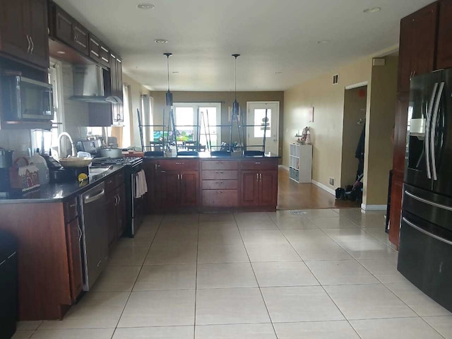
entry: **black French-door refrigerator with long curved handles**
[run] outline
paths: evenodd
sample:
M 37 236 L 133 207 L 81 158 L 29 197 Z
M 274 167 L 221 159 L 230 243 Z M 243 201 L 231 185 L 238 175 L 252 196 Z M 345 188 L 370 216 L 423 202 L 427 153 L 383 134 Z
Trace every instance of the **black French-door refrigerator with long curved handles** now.
M 452 69 L 411 81 L 398 270 L 452 311 Z

